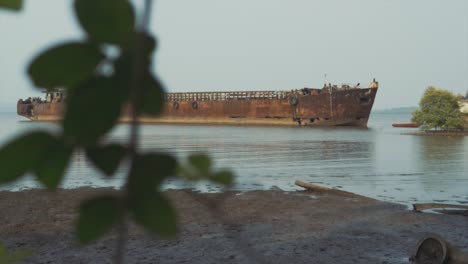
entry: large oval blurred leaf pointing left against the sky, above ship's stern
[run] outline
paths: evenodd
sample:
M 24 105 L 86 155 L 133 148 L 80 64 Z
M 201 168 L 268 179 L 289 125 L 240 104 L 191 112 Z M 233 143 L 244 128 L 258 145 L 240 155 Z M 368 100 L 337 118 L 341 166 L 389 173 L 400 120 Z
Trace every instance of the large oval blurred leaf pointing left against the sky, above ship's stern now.
M 65 43 L 34 58 L 28 74 L 37 87 L 72 87 L 89 79 L 103 59 L 104 55 L 93 44 Z

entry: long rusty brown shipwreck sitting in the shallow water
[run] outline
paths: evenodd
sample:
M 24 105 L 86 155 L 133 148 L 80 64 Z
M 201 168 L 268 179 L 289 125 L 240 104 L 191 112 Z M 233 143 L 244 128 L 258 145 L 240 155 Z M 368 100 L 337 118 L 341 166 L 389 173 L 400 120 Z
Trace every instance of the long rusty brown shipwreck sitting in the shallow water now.
M 142 116 L 146 123 L 358 126 L 366 127 L 378 90 L 331 85 L 286 91 L 166 93 L 161 116 Z M 66 96 L 59 90 L 46 99 L 20 99 L 18 115 L 32 121 L 59 121 Z M 121 121 L 128 121 L 123 114 Z

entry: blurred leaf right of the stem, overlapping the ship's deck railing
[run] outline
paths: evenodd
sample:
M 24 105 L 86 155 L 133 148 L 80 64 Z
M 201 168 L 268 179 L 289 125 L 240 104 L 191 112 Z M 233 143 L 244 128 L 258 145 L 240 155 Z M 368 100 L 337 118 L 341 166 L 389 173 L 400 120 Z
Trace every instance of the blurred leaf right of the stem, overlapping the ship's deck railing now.
M 161 82 L 148 73 L 143 88 L 142 112 L 153 116 L 159 115 L 164 106 L 164 88 Z

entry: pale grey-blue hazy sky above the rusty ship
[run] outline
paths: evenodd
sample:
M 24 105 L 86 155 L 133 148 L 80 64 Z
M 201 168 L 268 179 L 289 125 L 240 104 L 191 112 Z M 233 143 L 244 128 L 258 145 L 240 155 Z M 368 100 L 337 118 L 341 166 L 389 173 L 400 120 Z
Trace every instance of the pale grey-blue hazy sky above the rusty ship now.
M 142 0 L 135 0 L 142 2 Z M 72 1 L 0 11 L 0 103 L 38 96 L 26 66 L 84 35 Z M 290 90 L 380 82 L 374 109 L 429 85 L 468 91 L 467 0 L 158 0 L 155 69 L 168 91 Z M 71 62 L 73 63 L 73 62 Z

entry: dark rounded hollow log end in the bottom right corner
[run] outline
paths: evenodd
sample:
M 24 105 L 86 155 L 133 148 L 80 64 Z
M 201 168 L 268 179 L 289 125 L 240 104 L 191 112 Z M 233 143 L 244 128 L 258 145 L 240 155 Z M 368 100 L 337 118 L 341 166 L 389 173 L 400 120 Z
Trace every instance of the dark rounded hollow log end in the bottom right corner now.
M 466 264 L 468 253 L 437 235 L 428 235 L 419 240 L 410 261 L 416 264 Z

